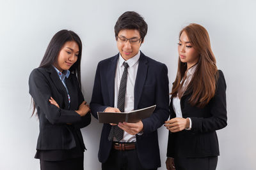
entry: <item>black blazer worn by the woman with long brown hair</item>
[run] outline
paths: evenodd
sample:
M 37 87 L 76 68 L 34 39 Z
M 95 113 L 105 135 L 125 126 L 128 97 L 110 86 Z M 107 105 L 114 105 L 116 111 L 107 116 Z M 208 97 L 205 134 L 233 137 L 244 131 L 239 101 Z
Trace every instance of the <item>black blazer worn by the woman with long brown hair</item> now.
M 191 94 L 180 99 L 183 118 L 191 118 L 190 131 L 169 131 L 167 157 L 210 157 L 220 155 L 216 130 L 227 125 L 226 83 L 222 71 L 218 71 L 215 96 L 204 107 L 191 106 Z M 171 118 L 176 117 L 170 103 Z

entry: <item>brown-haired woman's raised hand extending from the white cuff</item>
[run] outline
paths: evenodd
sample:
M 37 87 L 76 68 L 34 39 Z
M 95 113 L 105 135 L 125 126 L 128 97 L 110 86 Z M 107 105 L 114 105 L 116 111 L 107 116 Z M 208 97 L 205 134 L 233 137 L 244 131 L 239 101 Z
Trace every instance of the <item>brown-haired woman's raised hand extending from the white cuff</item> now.
M 164 126 L 166 129 L 168 129 L 171 132 L 179 132 L 183 131 L 186 128 L 189 128 L 189 118 L 172 118 L 171 120 L 168 120 L 164 122 Z

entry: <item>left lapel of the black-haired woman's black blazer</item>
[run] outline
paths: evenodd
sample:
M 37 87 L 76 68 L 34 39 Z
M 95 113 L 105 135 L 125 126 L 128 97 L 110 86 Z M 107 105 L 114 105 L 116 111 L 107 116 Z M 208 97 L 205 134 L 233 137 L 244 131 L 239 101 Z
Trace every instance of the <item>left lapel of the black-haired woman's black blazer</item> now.
M 63 101 L 65 103 L 65 109 L 67 109 L 68 108 L 67 90 L 65 89 L 63 83 L 61 82 L 60 77 L 58 76 L 54 67 L 51 66 L 51 67 L 47 68 L 47 71 L 49 71 L 51 80 L 54 83 L 54 85 L 56 86 L 56 89 L 60 92 L 61 96 L 63 97 Z

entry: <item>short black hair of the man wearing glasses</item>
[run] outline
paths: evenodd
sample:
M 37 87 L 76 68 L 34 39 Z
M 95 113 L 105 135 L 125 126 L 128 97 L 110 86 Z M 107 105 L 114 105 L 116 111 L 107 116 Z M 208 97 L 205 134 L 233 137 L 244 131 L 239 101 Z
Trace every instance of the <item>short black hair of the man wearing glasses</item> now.
M 141 42 L 143 42 L 147 31 L 148 31 L 148 25 L 141 17 L 140 14 L 134 12 L 134 11 L 126 11 L 123 13 L 118 20 L 116 21 L 115 25 L 115 36 L 117 38 L 118 33 L 122 29 L 136 29 L 140 32 Z

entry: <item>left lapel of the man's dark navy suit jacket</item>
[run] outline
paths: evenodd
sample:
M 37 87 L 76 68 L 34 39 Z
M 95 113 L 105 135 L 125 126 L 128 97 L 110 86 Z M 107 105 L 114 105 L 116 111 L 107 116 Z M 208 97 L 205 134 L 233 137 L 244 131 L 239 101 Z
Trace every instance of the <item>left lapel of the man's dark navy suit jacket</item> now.
M 116 73 L 116 62 L 118 60 L 119 53 L 111 59 L 108 65 L 107 71 L 107 82 L 108 82 L 108 92 L 109 92 L 109 105 L 114 107 L 115 99 L 115 73 Z

